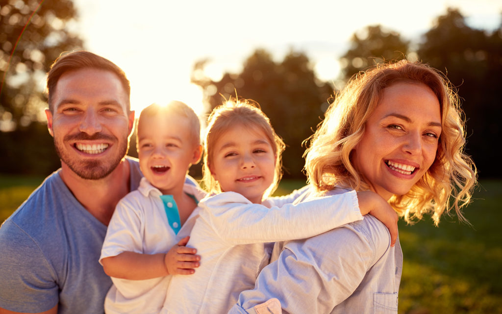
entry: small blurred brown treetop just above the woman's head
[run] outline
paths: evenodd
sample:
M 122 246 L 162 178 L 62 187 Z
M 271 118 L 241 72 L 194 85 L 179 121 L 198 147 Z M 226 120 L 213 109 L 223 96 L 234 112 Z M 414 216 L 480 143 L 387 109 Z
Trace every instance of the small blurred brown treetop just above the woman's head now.
M 345 80 L 368 66 L 390 60 L 401 60 L 408 54 L 409 41 L 381 25 L 368 26 L 362 34 L 354 33 L 350 49 L 340 58 Z

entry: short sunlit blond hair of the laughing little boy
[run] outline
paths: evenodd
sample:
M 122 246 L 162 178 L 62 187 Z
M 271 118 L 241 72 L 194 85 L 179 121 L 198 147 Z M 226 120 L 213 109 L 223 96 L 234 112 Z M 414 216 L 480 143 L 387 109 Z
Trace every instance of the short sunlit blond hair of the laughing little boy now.
M 140 114 L 140 118 L 136 123 L 136 130 L 139 132 L 139 126 L 142 120 L 146 117 L 155 117 L 158 115 L 178 115 L 184 117 L 188 120 L 190 125 L 190 138 L 194 145 L 200 145 L 200 120 L 195 114 L 192 108 L 181 101 L 173 100 L 166 105 L 160 105 L 158 103 L 152 103 L 147 108 L 143 109 Z M 139 135 L 139 134 L 138 134 Z M 136 147 L 139 148 L 139 139 L 136 137 Z

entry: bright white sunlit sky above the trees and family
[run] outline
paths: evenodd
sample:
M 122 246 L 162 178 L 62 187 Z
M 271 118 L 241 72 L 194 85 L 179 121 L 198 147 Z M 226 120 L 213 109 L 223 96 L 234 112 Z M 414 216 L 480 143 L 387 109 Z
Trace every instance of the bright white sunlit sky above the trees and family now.
M 176 99 L 199 114 L 204 111 L 201 91 L 190 84 L 190 72 L 202 58 L 211 59 L 207 74 L 219 79 L 223 71 L 239 71 L 256 48 L 267 49 L 278 61 L 293 48 L 307 54 L 319 78 L 331 81 L 351 35 L 368 25 L 381 24 L 417 41 L 449 6 L 458 8 L 471 27 L 490 30 L 498 27 L 502 12 L 499 0 L 75 3 L 85 48 L 126 72 L 133 109 Z

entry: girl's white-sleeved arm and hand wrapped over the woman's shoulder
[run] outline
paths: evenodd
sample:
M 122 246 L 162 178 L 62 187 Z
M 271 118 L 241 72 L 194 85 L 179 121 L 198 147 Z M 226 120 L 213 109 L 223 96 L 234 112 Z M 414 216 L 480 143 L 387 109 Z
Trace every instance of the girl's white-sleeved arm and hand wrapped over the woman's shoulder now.
M 224 192 L 201 201 L 204 210 L 200 215 L 233 245 L 305 239 L 361 220 L 361 212 L 367 214 L 376 204 L 385 204 L 394 213 L 378 194 L 364 193 L 360 211 L 355 191 L 271 208 L 253 204 L 238 193 Z

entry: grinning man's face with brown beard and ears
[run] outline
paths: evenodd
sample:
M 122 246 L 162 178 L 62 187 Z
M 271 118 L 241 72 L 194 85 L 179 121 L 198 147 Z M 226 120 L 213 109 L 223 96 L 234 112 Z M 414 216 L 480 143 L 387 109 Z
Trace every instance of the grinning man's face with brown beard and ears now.
M 92 180 L 111 173 L 127 153 L 134 123 L 119 78 L 100 69 L 64 73 L 52 101 L 47 127 L 63 169 Z

